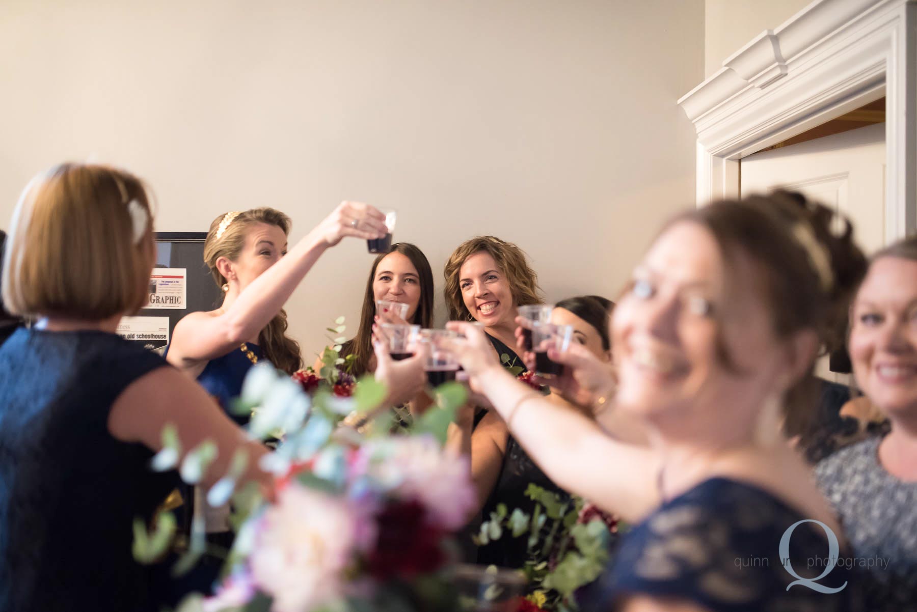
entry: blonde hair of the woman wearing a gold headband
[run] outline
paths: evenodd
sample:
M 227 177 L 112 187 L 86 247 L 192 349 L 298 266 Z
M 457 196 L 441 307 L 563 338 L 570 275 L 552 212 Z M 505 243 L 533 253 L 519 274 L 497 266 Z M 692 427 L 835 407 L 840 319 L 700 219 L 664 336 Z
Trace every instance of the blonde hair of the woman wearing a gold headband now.
M 272 208 L 253 208 L 244 213 L 225 213 L 216 217 L 204 241 L 204 263 L 210 268 L 217 287 L 222 287 L 226 279 L 216 268 L 216 260 L 226 257 L 236 261 L 245 247 L 248 230 L 254 224 L 276 225 L 284 235 L 290 235 L 293 226 L 290 217 Z M 286 335 L 287 326 L 286 311 L 280 311 L 261 330 L 258 344 L 274 367 L 293 374 L 303 367 L 303 356 L 299 343 Z

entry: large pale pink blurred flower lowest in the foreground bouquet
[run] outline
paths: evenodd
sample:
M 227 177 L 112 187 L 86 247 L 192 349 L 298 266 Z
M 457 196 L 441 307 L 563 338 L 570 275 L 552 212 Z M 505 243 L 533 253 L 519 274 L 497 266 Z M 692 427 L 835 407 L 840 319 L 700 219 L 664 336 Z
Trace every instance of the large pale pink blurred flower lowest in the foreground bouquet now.
M 357 518 L 345 500 L 295 482 L 260 519 L 249 558 L 255 585 L 274 598 L 272 612 L 301 612 L 340 598 Z

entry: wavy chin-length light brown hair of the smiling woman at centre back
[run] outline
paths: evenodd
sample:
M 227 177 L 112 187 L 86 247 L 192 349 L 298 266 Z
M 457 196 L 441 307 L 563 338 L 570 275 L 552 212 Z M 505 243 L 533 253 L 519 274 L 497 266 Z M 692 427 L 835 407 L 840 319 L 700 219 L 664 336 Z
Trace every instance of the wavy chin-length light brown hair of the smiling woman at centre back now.
M 446 268 L 443 270 L 443 276 L 446 277 L 443 294 L 446 297 L 450 321 L 470 320 L 471 313 L 465 306 L 465 301 L 461 297 L 461 288 L 458 287 L 458 275 L 466 259 L 482 252 L 490 254 L 497 268 L 500 268 L 500 271 L 506 275 L 510 290 L 513 292 L 514 305 L 525 306 L 525 304 L 544 302 L 541 297 L 541 289 L 538 287 L 538 275 L 528 265 L 525 252 L 511 242 L 492 235 L 480 235 L 459 245 L 449 257 Z

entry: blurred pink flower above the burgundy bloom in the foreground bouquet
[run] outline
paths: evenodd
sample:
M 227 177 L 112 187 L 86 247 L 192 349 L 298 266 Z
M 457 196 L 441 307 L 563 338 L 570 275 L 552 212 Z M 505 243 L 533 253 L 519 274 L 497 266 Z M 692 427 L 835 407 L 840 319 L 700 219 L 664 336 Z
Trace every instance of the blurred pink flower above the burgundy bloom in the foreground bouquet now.
M 395 497 L 419 501 L 430 523 L 444 530 L 462 527 L 475 506 L 468 458 L 444 453 L 432 436 L 371 441 L 351 468 Z

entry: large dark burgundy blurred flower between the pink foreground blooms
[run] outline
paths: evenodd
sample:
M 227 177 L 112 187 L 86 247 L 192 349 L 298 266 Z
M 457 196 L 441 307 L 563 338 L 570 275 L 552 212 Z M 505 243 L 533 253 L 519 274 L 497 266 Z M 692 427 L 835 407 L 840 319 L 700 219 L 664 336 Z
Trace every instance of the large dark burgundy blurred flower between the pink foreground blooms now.
M 367 571 L 378 580 L 410 579 L 435 572 L 446 561 L 442 530 L 425 521 L 416 501 L 396 501 L 382 508 L 376 522 L 379 539 L 367 558 Z

